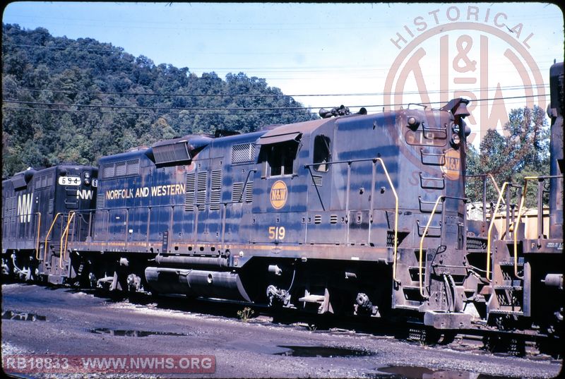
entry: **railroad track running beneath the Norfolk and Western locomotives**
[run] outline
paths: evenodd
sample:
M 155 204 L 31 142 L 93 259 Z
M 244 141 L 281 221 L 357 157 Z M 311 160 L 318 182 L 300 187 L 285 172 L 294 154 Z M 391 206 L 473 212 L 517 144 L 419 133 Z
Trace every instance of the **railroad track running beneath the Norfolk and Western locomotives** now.
M 47 286 L 68 287 L 52 284 L 47 284 Z M 179 297 L 186 299 L 186 296 L 182 295 L 153 296 L 148 293 L 137 292 L 131 296 L 126 296 L 121 292 L 114 294 L 102 289 L 75 288 L 75 290 L 95 296 L 109 297 L 114 301 L 129 301 L 138 306 L 152 306 L 172 311 L 201 313 L 226 318 L 241 318 L 238 316 L 238 311 L 250 308 L 253 311 L 247 320 L 250 323 L 285 325 L 285 327 L 306 328 L 315 332 L 355 333 L 379 338 L 391 337 L 409 343 L 426 344 L 438 349 L 464 349 L 481 354 L 507 354 L 525 358 L 533 358 L 540 356 L 540 354 L 552 356 L 555 359 L 562 359 L 563 357 L 563 350 L 558 339 L 535 334 L 531 330 L 526 332 L 501 331 L 486 325 L 475 325 L 475 328 L 461 332 L 457 330 L 441 331 L 427 327 L 415 319 L 359 319 L 342 315 L 314 315 L 296 310 L 279 311 L 267 306 L 250 306 L 248 303 L 237 301 L 204 298 L 179 301 Z

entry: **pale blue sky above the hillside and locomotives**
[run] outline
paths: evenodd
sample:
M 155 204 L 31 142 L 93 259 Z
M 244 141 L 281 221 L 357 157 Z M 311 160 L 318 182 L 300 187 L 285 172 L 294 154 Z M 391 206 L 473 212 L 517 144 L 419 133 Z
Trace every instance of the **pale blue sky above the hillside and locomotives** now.
M 383 92 L 403 92 L 402 102 L 422 102 L 422 83 L 431 102 L 453 97 L 456 91 L 463 90 L 478 99 L 492 98 L 498 87 L 498 93 L 504 97 L 518 97 L 504 100 L 507 110 L 522 107 L 528 100 L 540 100 L 541 104 L 544 97 L 539 90 L 547 85 L 549 66 L 554 59 L 561 61 L 564 56 L 563 13 L 556 5 L 545 3 L 21 1 L 6 6 L 2 21 L 29 29 L 46 28 L 57 37 L 91 37 L 123 47 L 134 56 L 147 56 L 155 64 L 188 67 L 198 75 L 215 71 L 224 78 L 228 72 L 243 71 L 248 76 L 266 78 L 269 85 L 289 95 L 336 94 L 297 100 L 311 107 L 345 104 L 352 110 L 362 105 L 381 107 L 395 102 L 394 96 L 387 98 Z M 478 30 L 465 30 L 465 22 Z M 453 30 L 446 31 L 449 28 Z M 400 49 L 391 40 L 396 40 Z M 408 46 L 410 42 L 412 47 Z M 442 46 L 446 50 L 441 50 Z M 444 66 L 439 58 L 442 51 Z M 468 53 L 460 54 L 465 51 Z M 401 68 L 417 52 L 424 54 L 420 60 L 420 86 L 413 72 L 399 85 Z M 406 58 L 399 61 L 403 53 Z M 528 56 L 537 67 L 528 65 Z M 464 71 L 465 62 L 471 64 L 465 75 L 475 76 L 475 83 L 454 83 L 461 66 Z M 445 72 L 439 71 L 440 66 Z M 470 67 L 474 70 L 470 71 Z M 539 71 L 543 83 L 538 83 L 534 71 Z M 441 76 L 445 75 L 448 79 L 442 87 Z M 387 87 L 387 76 L 392 78 L 392 87 Z M 525 91 L 524 85 L 533 88 L 533 92 Z M 448 90 L 448 94 L 441 97 L 440 90 Z M 520 98 L 528 93 L 533 95 Z M 476 105 L 484 104 L 487 101 Z M 379 107 L 369 107 L 369 112 L 381 110 Z M 479 107 L 476 109 L 479 111 Z M 480 126 L 480 117 L 476 118 L 472 127 L 477 131 L 494 127 L 496 121 Z

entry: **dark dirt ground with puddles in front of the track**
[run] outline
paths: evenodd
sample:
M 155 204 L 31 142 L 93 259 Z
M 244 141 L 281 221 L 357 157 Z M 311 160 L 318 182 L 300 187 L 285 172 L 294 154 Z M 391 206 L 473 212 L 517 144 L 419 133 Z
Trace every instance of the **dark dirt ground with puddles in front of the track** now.
M 181 297 L 163 303 L 113 300 L 69 288 L 3 284 L 2 356 L 215 356 L 214 373 L 183 375 L 189 378 L 554 378 L 562 366 L 562 360 L 549 356 L 518 358 L 476 348 L 429 347 L 385 335 L 278 324 L 263 315 L 244 322 L 237 317 L 244 308 L 240 304 L 193 306 Z M 113 376 L 137 378 L 140 373 Z

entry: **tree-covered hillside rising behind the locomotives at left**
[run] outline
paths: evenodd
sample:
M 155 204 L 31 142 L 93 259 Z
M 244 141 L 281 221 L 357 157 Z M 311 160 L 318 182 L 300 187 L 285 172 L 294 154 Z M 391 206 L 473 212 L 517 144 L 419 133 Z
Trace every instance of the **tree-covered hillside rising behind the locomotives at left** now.
M 4 178 L 59 162 L 95 164 L 102 155 L 191 133 L 317 117 L 261 78 L 198 77 L 112 44 L 5 24 L 2 100 Z

